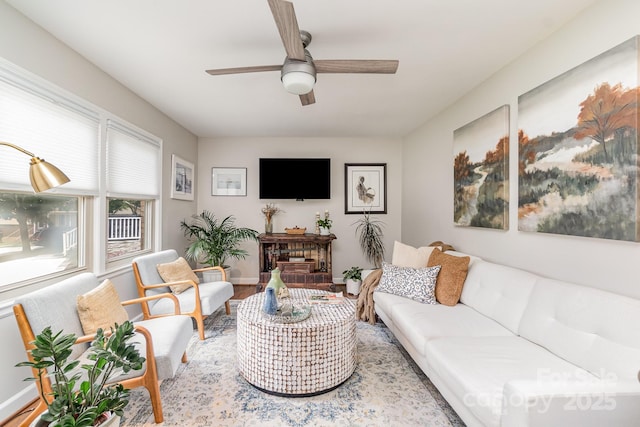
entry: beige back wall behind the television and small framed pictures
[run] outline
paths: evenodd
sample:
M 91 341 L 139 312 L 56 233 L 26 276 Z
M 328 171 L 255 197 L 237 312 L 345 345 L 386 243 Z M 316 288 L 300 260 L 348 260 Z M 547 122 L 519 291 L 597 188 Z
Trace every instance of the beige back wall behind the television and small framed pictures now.
M 286 212 L 274 219 L 274 231 L 285 227 L 315 229 L 315 213 L 328 209 L 333 220 L 333 276 L 342 280 L 342 271 L 354 266 L 368 266 L 355 237 L 359 215 L 344 214 L 344 164 L 387 163 L 387 215 L 379 215 L 385 222 L 385 243 L 389 254 L 393 241 L 400 238 L 401 169 L 399 139 L 371 138 L 223 138 L 200 139 L 198 148 L 198 210 L 210 210 L 219 218 L 234 215 L 237 224 L 264 231 L 264 216 L 260 209 L 276 203 Z M 330 200 L 260 200 L 258 197 L 258 160 L 260 157 L 329 157 L 331 158 Z M 246 167 L 247 197 L 211 196 L 212 167 Z M 292 177 L 291 179 L 304 179 Z M 257 244 L 246 244 L 251 257 L 232 263 L 232 280 L 256 283 L 258 278 Z

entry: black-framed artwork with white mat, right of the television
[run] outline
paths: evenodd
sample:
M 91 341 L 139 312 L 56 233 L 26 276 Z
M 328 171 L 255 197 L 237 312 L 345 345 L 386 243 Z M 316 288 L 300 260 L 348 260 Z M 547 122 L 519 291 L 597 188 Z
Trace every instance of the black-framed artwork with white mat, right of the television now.
M 387 213 L 387 164 L 345 163 L 344 213 Z

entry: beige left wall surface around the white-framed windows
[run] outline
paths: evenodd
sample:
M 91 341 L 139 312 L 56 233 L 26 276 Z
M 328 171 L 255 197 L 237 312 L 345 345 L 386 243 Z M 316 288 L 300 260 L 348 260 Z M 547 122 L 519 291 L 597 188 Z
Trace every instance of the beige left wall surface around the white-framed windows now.
M 177 153 L 195 163 L 196 137 L 3 1 L 0 1 L 0 57 L 162 138 L 162 246 L 184 247 L 184 237 L 178 224 L 180 219 L 196 211 L 196 202 L 169 198 L 171 154 Z M 137 296 L 130 269 L 109 275 L 123 299 Z M 0 296 L 3 348 L 0 351 L 0 420 L 35 397 L 35 389 L 32 386 L 27 388 L 22 381 L 30 372 L 14 367 L 24 360 L 25 353 L 7 298 L 7 294 Z

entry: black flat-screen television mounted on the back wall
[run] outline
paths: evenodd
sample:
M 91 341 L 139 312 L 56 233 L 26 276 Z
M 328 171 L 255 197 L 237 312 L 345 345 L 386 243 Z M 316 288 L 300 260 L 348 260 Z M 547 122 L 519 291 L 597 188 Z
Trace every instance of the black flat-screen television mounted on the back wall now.
M 330 199 L 331 159 L 260 159 L 261 199 Z

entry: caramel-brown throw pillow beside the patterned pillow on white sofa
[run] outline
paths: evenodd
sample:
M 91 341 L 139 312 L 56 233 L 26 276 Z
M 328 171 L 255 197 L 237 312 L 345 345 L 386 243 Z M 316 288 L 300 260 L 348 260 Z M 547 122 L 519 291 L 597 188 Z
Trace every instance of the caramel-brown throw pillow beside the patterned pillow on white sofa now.
M 435 248 L 431 252 L 427 266 L 442 266 L 436 281 L 436 300 L 444 305 L 456 305 L 462 295 L 462 287 L 469 271 L 468 256 L 458 257 Z

